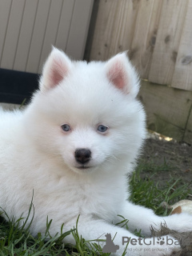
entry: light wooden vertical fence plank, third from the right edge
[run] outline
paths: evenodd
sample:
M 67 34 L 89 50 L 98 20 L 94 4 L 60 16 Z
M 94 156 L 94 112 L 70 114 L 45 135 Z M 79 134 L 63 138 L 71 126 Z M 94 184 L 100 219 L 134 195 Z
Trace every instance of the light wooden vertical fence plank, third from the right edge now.
M 129 56 L 142 78 L 148 78 L 154 52 L 162 1 L 142 1 L 139 6 Z

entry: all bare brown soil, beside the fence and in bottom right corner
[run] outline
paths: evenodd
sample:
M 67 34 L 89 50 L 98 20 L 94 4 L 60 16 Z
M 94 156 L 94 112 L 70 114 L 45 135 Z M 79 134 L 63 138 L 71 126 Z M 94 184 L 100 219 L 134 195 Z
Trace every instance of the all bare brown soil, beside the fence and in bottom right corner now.
M 169 138 L 168 138 L 169 139 Z M 189 184 L 191 193 L 188 199 L 192 200 L 192 146 L 186 143 L 167 142 L 159 134 L 150 134 L 142 150 L 139 162 L 145 162 L 145 166 L 158 166 L 155 175 L 150 178 L 158 182 L 159 186 L 164 186 L 170 178 L 181 180 Z M 151 165 L 151 162 L 153 163 Z M 161 168 L 162 166 L 162 168 Z M 167 166 L 167 168 L 165 168 Z M 142 172 L 142 178 L 149 176 L 154 170 L 146 168 Z M 178 233 L 173 230 L 159 230 L 156 236 L 170 234 L 180 241 L 182 251 L 173 253 L 171 256 L 192 256 L 192 232 Z

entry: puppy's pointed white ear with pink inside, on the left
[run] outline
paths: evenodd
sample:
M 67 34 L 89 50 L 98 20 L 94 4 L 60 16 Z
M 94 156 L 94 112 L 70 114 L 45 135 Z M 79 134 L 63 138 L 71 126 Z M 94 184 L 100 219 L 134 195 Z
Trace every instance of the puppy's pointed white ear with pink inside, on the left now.
M 72 62 L 61 50 L 53 47 L 42 70 L 40 90 L 46 91 L 60 82 L 70 73 Z

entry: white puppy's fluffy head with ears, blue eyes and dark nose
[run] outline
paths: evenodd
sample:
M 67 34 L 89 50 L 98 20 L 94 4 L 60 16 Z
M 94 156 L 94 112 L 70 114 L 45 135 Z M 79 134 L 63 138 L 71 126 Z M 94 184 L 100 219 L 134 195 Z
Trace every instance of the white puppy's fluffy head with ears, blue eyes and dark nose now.
M 71 62 L 54 48 L 28 108 L 27 132 L 78 173 L 132 162 L 145 135 L 138 89 L 125 53 L 108 62 Z

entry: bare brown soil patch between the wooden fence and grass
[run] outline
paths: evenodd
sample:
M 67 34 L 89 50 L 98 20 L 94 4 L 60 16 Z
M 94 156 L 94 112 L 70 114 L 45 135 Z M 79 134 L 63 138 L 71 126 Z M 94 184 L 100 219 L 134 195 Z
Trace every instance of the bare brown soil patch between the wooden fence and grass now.
M 163 183 L 170 178 L 181 178 L 189 183 L 192 190 L 192 146 L 174 140 L 168 142 L 166 139 L 169 138 L 159 134 L 150 134 L 149 137 L 146 139 L 139 161 L 144 161 L 149 166 L 152 163 L 153 166 L 158 167 L 156 174 L 152 177 L 154 181 L 163 186 Z M 148 175 L 149 172 L 150 170 L 147 170 L 142 175 Z

